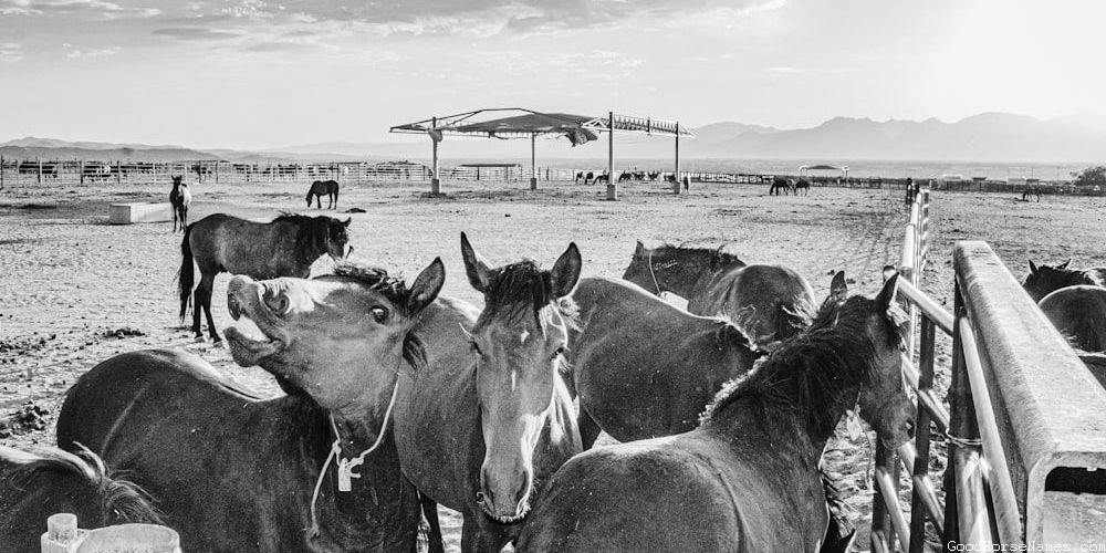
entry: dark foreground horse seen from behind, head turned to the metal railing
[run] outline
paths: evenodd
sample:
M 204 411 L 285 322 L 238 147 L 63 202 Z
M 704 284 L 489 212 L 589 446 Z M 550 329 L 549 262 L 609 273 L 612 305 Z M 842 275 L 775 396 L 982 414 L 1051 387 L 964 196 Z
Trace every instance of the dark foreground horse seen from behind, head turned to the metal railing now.
M 838 419 L 859 404 L 888 446 L 909 436 L 896 283 L 874 300 L 831 298 L 807 331 L 728 384 L 695 430 L 571 459 L 515 550 L 817 551 L 818 460 Z

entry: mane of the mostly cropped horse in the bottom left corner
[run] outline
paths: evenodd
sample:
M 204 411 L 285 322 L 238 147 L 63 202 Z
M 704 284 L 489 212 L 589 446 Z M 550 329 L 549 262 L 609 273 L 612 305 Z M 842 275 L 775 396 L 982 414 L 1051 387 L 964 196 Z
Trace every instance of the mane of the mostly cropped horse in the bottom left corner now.
M 59 448 L 39 448 L 33 452 L 11 448 L 0 450 L 0 459 L 17 465 L 4 478 L 12 482 L 30 482 L 40 470 L 72 473 L 96 490 L 105 518 L 101 521 L 102 525 L 113 522 L 164 523 L 161 513 L 154 507 L 153 498 L 146 490 L 123 479 L 123 472 L 108 471 L 104 460 L 88 448 L 81 444 L 76 446 L 80 455 Z

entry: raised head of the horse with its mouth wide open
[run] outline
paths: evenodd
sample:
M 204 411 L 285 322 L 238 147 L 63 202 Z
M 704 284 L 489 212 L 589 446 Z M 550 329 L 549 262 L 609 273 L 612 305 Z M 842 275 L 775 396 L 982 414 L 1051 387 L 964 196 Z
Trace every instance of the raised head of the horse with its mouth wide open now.
M 407 359 L 420 364 L 411 333 L 437 298 L 445 267 L 436 259 L 407 285 L 380 269 L 341 265 L 316 279 L 253 281 L 234 276 L 227 306 L 230 353 L 241 366 L 260 365 L 346 420 L 387 403 Z M 375 429 L 374 429 L 375 431 Z

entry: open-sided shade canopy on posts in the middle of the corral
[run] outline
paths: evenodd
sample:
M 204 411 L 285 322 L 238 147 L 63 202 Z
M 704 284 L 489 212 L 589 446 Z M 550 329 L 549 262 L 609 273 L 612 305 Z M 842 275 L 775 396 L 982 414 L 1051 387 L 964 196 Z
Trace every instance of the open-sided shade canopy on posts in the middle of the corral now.
M 430 181 L 431 192 L 440 192 L 438 179 L 438 143 L 446 135 L 476 136 L 487 138 L 530 138 L 531 189 L 538 188 L 536 137 L 564 136 L 573 146 L 597 140 L 601 133 L 611 133 L 608 150 L 608 174 L 614 173 L 614 133 L 639 133 L 647 135 L 674 136 L 677 140 L 676 170 L 679 181 L 679 138 L 695 137 L 687 127 L 678 122 L 655 119 L 653 117 L 635 117 L 615 115 L 613 112 L 605 117 L 577 115 L 568 113 L 546 113 L 523 107 L 500 107 L 476 109 L 442 117 L 396 125 L 393 133 L 426 134 L 432 140 L 434 178 Z M 609 186 L 616 186 L 615 179 L 608 179 Z M 677 188 L 678 191 L 678 188 Z M 608 188 L 608 196 L 611 191 Z

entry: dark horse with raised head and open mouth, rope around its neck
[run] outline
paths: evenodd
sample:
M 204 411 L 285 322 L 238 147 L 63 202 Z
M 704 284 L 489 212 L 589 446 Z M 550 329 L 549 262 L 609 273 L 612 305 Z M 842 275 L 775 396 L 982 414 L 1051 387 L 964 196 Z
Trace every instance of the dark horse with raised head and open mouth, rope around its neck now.
M 353 265 L 313 280 L 236 276 L 231 355 L 289 395 L 260 399 L 182 351 L 127 353 L 77 379 L 58 442 L 132 474 L 184 551 L 414 552 L 419 499 L 389 414 L 400 367 L 421 366 L 413 328 L 444 281 L 440 260 L 410 289 Z

